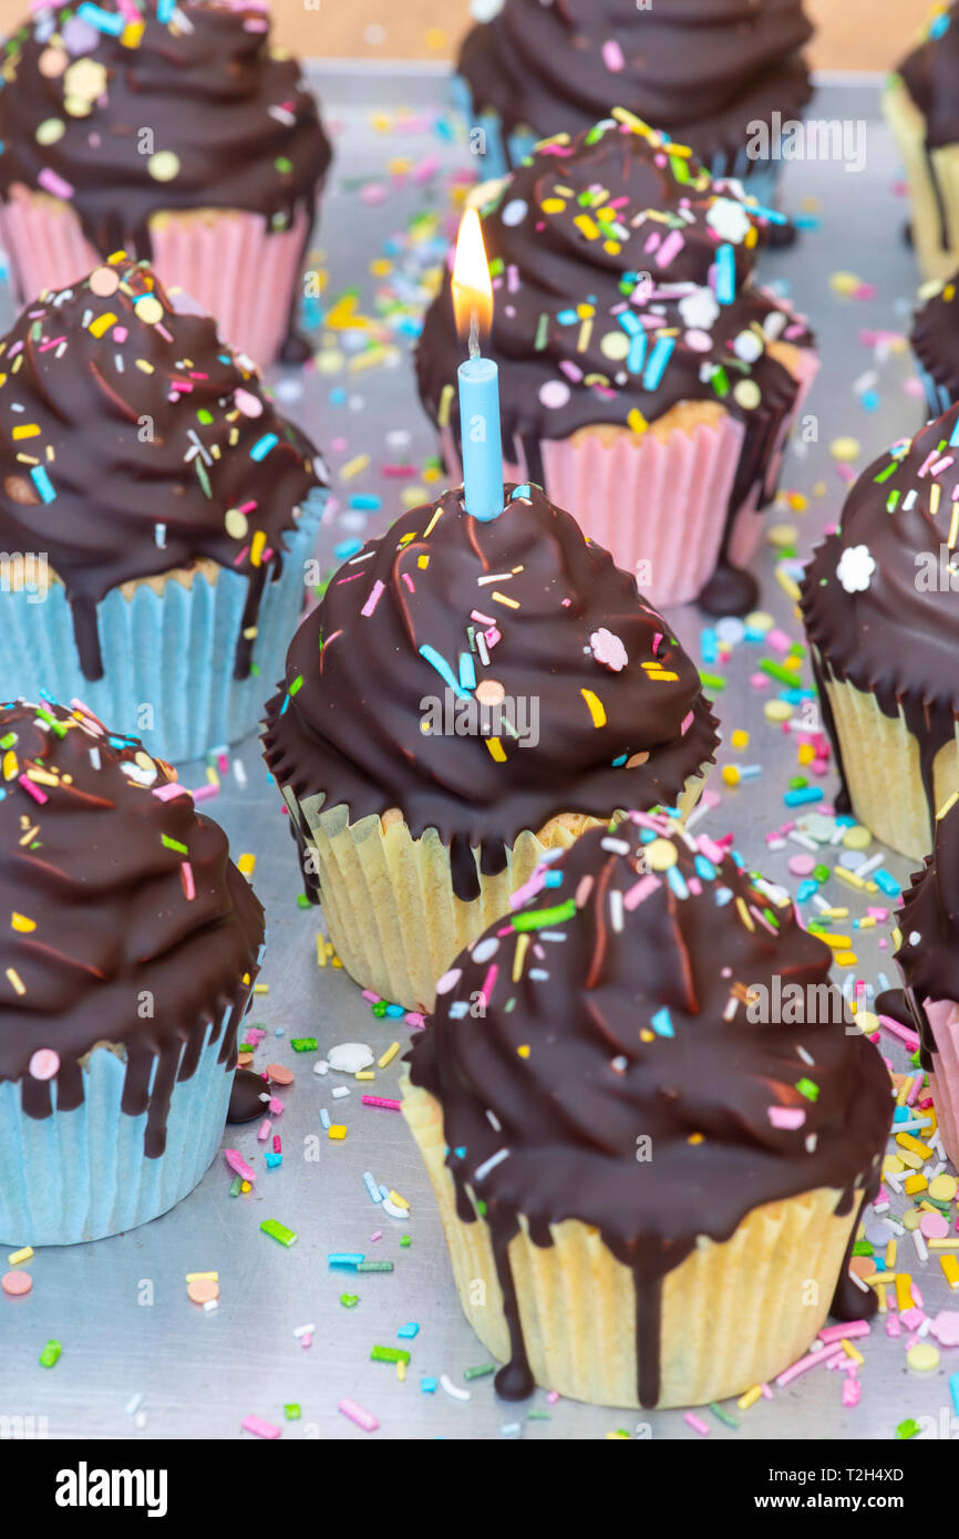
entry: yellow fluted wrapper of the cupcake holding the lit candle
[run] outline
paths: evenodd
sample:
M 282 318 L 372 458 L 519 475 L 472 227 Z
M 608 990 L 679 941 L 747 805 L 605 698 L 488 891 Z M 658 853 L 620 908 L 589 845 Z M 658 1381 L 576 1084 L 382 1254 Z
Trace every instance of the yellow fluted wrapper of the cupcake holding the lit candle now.
M 683 817 L 699 800 L 703 776 L 687 783 Z M 406 1010 L 433 1008 L 436 980 L 508 913 L 511 894 L 550 850 L 565 850 L 605 822 L 560 813 L 537 833 L 525 830 L 497 876 L 480 873 L 476 851 L 480 893 L 465 903 L 453 891 L 449 848 L 434 828 L 414 839 L 396 810 L 351 823 L 346 806 L 323 811 L 319 797 L 297 802 L 289 790 L 283 794 L 309 830 L 323 919 L 340 962 L 363 988 Z

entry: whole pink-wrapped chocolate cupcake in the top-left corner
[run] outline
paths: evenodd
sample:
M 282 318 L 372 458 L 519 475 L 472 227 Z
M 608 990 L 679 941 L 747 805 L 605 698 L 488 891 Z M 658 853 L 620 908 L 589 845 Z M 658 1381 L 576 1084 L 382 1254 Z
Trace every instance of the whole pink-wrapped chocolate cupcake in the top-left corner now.
M 20 302 L 125 248 L 259 363 L 291 339 L 329 145 L 260 0 L 42 6 L 8 38 L 0 235 Z

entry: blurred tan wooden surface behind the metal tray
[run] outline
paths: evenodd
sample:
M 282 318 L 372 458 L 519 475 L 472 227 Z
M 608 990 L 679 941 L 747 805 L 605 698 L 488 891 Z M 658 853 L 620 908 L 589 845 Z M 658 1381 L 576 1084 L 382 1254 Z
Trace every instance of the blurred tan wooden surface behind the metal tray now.
M 469 25 L 468 0 L 272 0 L 272 9 L 279 38 L 319 58 L 442 60 Z M 807 0 L 819 26 L 813 63 L 888 69 L 933 9 L 931 0 Z M 28 12 L 29 0 L 0 0 L 0 32 Z

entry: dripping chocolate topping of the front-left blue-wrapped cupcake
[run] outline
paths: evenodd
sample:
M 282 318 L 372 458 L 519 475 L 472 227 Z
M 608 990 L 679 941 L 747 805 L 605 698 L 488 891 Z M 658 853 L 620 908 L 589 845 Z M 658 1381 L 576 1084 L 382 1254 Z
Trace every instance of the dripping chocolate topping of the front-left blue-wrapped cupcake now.
M 236 1065 L 263 910 L 222 828 L 137 737 L 17 700 L 0 753 L 0 1080 L 23 1082 L 31 1117 L 71 1111 L 85 1056 L 120 1048 L 123 1111 L 146 1113 L 155 1159 L 208 1033 Z

